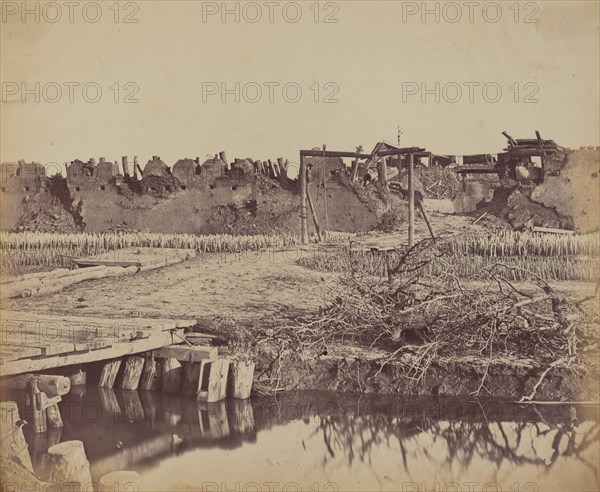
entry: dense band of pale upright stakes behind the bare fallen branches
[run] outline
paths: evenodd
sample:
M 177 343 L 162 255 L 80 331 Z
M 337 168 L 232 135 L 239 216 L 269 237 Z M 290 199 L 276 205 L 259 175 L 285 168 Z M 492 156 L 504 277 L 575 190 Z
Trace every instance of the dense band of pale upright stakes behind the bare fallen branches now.
M 502 231 L 490 234 L 454 236 L 442 240 L 444 255 L 430 262 L 423 274 L 443 275 L 449 268 L 463 278 L 481 279 L 485 271 L 500 263 L 508 280 L 597 281 L 600 278 L 597 234 L 548 235 Z M 405 247 L 388 252 L 317 251 L 300 263 L 308 268 L 332 272 L 354 272 L 387 277 Z

